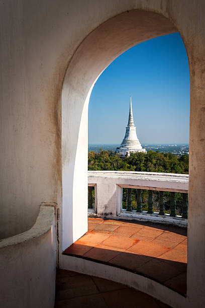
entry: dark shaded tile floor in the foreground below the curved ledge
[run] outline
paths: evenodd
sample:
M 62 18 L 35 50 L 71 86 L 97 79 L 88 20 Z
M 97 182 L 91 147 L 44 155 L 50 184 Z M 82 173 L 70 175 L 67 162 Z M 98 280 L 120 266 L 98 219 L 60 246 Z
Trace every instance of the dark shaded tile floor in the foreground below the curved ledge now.
M 110 280 L 58 270 L 55 308 L 169 308 L 157 299 Z

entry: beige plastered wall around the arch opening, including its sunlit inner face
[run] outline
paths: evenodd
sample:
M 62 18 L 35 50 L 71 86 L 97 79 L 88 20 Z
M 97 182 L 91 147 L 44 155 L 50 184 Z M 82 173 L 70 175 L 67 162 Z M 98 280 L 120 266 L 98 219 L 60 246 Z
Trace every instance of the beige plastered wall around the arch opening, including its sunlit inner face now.
M 79 229 L 77 221 L 86 215 L 87 106 L 94 81 L 126 49 L 179 31 L 190 68 L 187 300 L 190 307 L 205 306 L 204 1 L 10 0 L 0 5 L 1 238 L 28 230 L 40 205 L 48 202 L 60 209 L 61 248 L 86 231 L 86 222 Z M 136 9 L 159 16 L 135 15 Z M 127 15 L 114 19 L 123 12 Z

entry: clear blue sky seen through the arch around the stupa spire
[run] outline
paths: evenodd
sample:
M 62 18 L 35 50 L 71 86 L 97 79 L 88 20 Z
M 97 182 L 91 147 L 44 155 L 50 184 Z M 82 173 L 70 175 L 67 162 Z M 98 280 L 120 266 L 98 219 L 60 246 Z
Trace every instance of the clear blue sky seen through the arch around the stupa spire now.
M 120 55 L 99 76 L 88 111 L 88 143 L 121 143 L 132 96 L 141 143 L 188 143 L 189 67 L 178 33 Z

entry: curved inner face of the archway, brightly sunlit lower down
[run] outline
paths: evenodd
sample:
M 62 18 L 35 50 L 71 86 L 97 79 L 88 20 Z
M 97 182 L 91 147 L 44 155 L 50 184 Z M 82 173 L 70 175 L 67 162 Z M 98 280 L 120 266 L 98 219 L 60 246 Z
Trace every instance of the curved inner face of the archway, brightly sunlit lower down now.
M 174 32 L 159 14 L 127 11 L 96 28 L 74 53 L 62 90 L 62 249 L 87 230 L 87 112 L 94 82 L 127 49 Z

